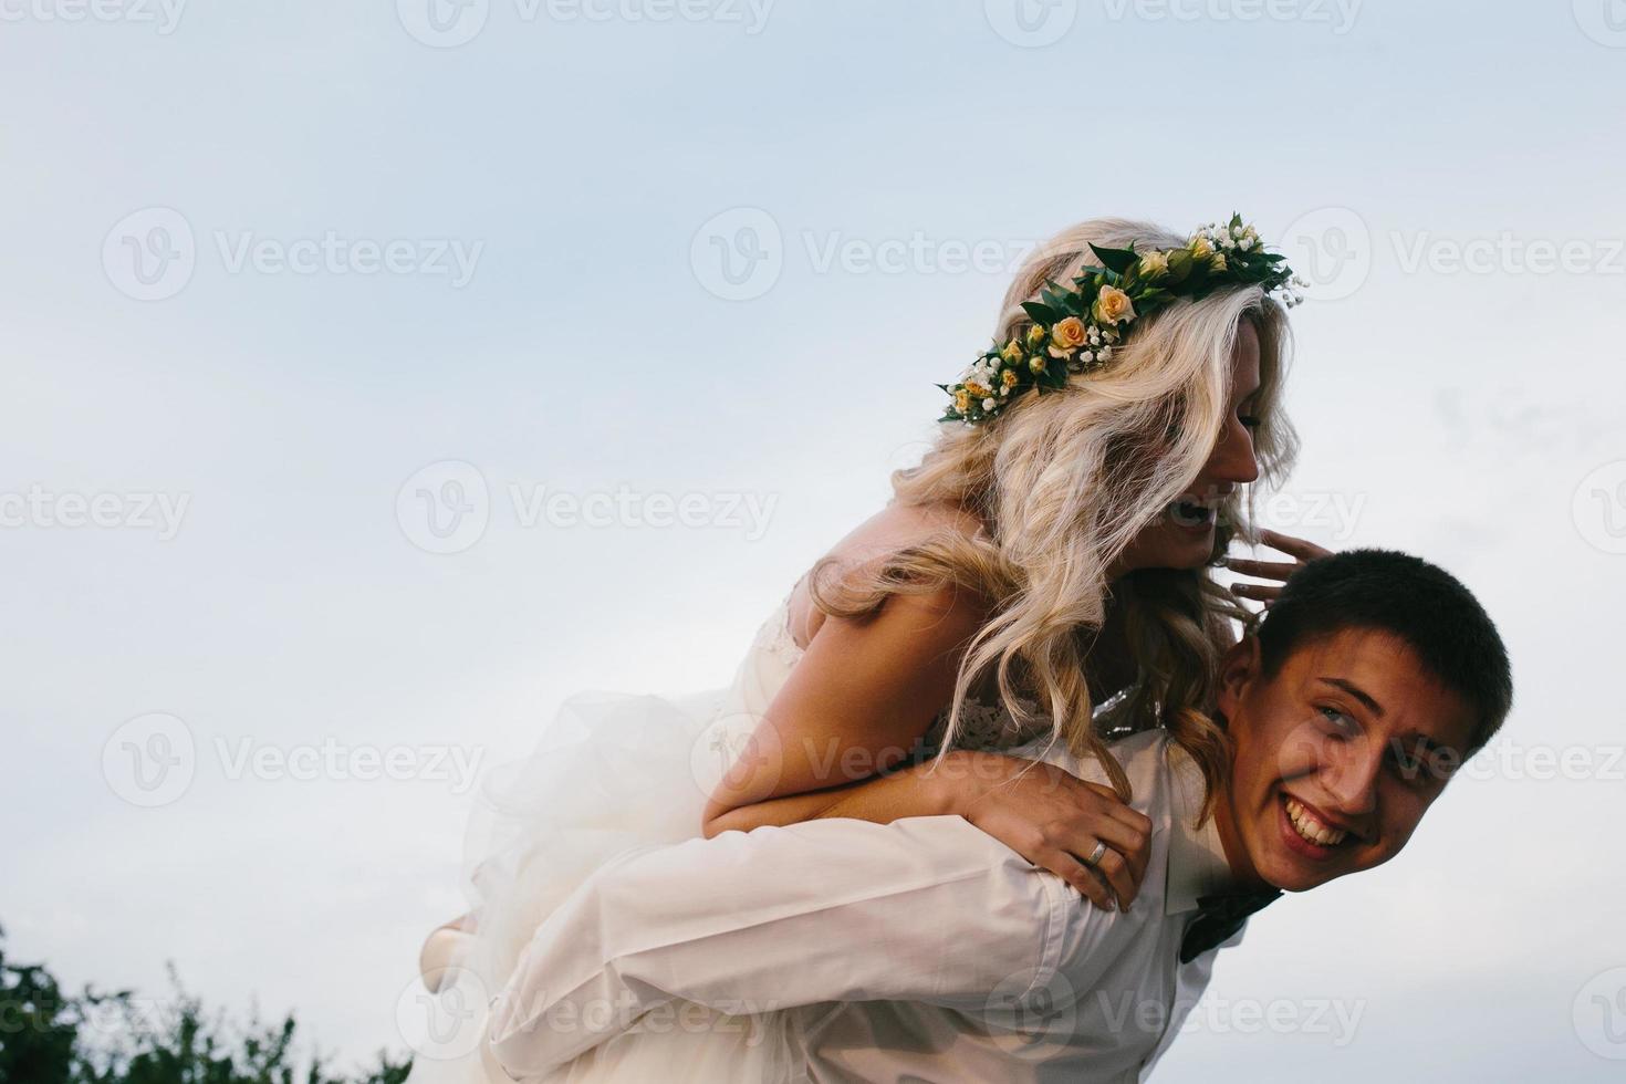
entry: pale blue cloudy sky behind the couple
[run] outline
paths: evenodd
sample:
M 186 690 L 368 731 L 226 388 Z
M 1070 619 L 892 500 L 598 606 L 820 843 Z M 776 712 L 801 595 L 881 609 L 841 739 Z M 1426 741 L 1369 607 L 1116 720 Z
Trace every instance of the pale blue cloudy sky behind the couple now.
M 1159 1079 L 1618 1076 L 1619 0 L 0 23 L 8 952 L 400 1050 L 475 780 L 576 691 L 725 684 L 1034 244 L 1234 210 L 1311 280 L 1265 525 L 1450 569 L 1517 704 Z

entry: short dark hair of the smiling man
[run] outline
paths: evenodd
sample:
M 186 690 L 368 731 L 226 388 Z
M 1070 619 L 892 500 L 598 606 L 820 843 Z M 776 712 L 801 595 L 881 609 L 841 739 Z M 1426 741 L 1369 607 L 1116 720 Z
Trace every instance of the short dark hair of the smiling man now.
M 1350 549 L 1294 572 L 1255 635 L 1265 678 L 1288 657 L 1343 629 L 1389 632 L 1478 717 L 1463 757 L 1507 718 L 1514 702 L 1507 648 L 1485 608 L 1450 572 L 1393 549 Z

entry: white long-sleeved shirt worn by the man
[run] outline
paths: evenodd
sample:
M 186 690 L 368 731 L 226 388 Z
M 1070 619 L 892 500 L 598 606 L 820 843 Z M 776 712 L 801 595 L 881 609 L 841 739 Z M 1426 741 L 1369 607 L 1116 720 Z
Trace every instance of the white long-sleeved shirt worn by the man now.
M 1167 733 L 1112 748 L 1153 822 L 1127 913 L 958 816 L 634 850 L 538 928 L 493 1003 L 489 1050 L 540 1079 L 646 1012 L 698 1003 L 787 1009 L 795 1079 L 821 1084 L 1143 1079 L 1208 985 L 1215 952 L 1180 964 L 1180 938 L 1231 874 L 1213 819 L 1193 827 L 1202 777 Z M 1104 780 L 1063 749 L 1011 752 Z

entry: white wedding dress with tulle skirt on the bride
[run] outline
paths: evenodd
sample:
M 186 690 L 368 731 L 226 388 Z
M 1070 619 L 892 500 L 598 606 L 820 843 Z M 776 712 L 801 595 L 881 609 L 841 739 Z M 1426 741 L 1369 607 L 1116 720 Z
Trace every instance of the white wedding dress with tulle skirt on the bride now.
M 491 998 L 541 920 L 605 860 L 699 835 L 706 798 L 803 655 L 789 608 L 790 595 L 763 622 L 728 687 L 683 697 L 579 694 L 564 702 L 528 759 L 486 782 L 465 863 L 475 933 L 459 939 L 439 991 L 416 995 L 433 1021 L 411 1043 L 408 1084 L 511 1084 L 485 1053 Z M 928 749 L 946 713 L 927 731 Z M 956 744 L 1011 748 L 1047 730 L 1041 712 L 1021 728 L 1002 707 L 967 704 Z M 634 1029 L 577 1058 L 550 1084 L 795 1081 L 800 1066 L 790 1050 L 784 1014 L 774 1012 L 738 1027 Z

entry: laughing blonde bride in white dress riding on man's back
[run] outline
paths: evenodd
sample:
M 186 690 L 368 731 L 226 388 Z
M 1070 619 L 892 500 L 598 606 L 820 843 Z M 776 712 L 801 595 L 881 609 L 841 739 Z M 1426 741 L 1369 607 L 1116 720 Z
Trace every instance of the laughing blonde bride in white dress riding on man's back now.
M 1244 501 L 1296 455 L 1281 405 L 1291 281 L 1239 218 L 1190 237 L 1093 219 L 1046 242 L 993 348 L 940 385 L 930 452 L 774 608 L 730 686 L 580 694 L 488 782 L 472 910 L 421 959 L 457 1040 L 415 1043 L 410 1079 L 509 1079 L 470 1034 L 548 913 L 631 847 L 959 814 L 1096 907 L 1130 907 L 1150 821 L 1125 804 L 1104 739 L 1161 725 L 1216 764 L 1224 735 L 1203 707 L 1231 622 L 1250 619 L 1233 593 L 1268 605 L 1280 588 L 1228 592 L 1210 569 L 1237 536 L 1294 559 L 1229 561 L 1263 580 L 1325 553 L 1255 535 Z M 1046 733 L 1114 785 L 1002 752 Z M 722 1029 L 667 1038 L 634 1032 L 559 1079 L 784 1068 L 772 1043 L 746 1050 Z

